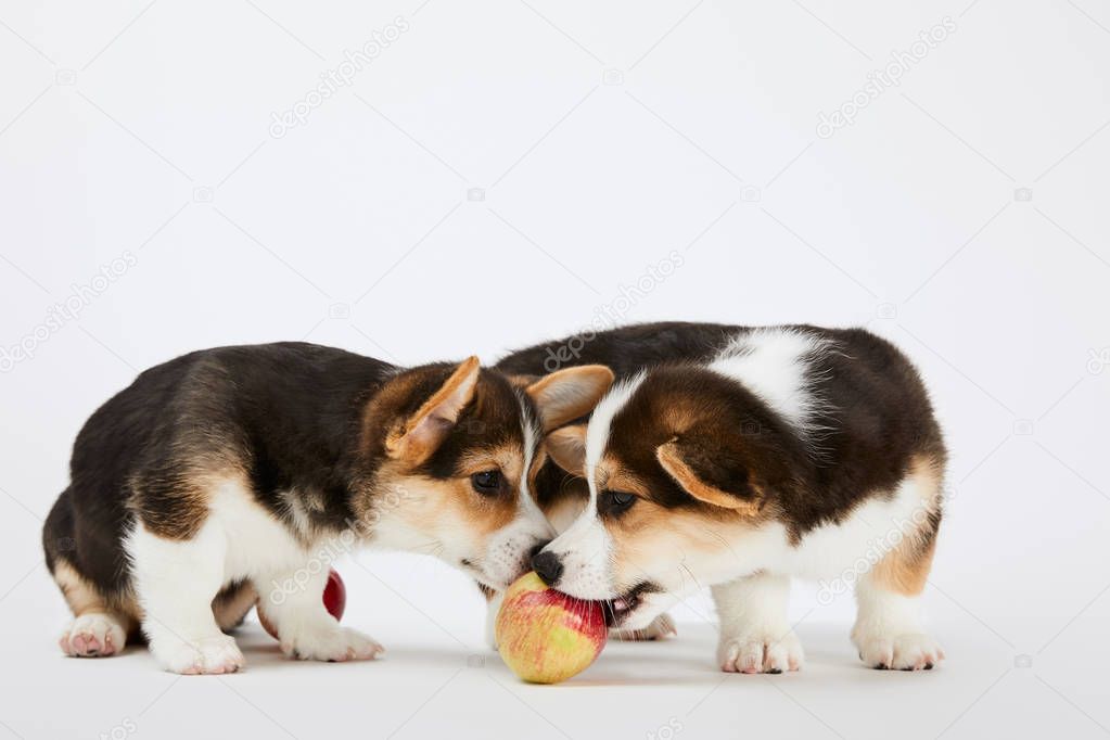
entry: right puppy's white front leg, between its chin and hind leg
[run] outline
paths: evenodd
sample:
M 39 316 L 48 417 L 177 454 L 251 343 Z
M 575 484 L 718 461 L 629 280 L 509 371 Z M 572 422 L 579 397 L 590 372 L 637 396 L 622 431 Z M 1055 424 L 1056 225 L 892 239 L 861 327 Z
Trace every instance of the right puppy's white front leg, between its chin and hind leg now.
M 720 619 L 717 663 L 730 673 L 781 673 L 805 660 L 786 609 L 788 576 L 758 572 L 713 588 Z

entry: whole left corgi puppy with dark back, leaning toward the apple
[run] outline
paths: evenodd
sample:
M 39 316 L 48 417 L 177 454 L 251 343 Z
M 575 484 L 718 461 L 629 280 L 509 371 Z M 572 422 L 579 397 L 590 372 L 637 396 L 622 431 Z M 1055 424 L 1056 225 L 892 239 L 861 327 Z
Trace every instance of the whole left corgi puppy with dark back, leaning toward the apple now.
M 543 435 L 589 412 L 605 367 L 522 385 L 460 364 L 401 368 L 304 343 L 153 367 L 98 409 L 44 529 L 74 620 L 70 656 L 141 629 L 178 673 L 243 667 L 230 629 L 258 601 L 291 657 L 375 657 L 323 607 L 361 546 L 435 555 L 503 589 L 553 535 L 529 487 Z

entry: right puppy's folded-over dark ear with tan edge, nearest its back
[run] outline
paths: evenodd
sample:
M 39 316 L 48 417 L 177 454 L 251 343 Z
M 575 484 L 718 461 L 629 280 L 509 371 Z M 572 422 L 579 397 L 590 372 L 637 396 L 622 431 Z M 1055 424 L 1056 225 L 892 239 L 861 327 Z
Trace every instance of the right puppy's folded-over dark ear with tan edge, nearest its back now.
M 675 437 L 659 445 L 655 458 L 687 494 L 705 504 L 754 516 L 766 503 L 763 488 L 727 440 Z

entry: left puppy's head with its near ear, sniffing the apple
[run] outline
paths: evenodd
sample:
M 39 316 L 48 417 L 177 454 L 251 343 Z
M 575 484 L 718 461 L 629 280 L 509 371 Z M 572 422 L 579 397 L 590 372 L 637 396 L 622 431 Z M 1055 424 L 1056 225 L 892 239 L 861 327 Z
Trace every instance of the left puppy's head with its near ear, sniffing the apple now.
M 398 378 L 401 408 L 370 516 L 384 544 L 441 557 L 503 588 L 547 535 L 524 481 L 538 446 L 537 414 L 525 394 L 476 362 L 445 374 L 418 406 L 411 398 L 434 384 Z

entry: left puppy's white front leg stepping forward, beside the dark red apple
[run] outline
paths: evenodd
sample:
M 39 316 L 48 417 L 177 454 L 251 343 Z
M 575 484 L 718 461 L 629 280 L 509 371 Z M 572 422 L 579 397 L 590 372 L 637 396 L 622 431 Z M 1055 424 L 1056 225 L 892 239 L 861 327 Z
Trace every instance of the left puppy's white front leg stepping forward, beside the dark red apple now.
M 343 627 L 324 607 L 327 567 L 305 564 L 255 584 L 259 610 L 278 631 L 281 649 L 300 660 L 369 660 L 384 648 L 366 635 Z

